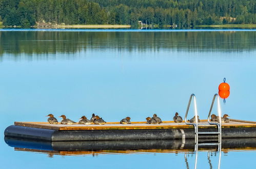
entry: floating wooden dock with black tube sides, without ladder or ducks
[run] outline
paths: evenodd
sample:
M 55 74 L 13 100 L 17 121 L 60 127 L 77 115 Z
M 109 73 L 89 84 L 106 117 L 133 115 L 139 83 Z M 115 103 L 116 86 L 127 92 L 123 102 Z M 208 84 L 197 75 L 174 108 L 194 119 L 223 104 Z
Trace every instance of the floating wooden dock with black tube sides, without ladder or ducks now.
M 199 132 L 217 132 L 216 125 L 207 120 L 199 123 Z M 6 137 L 45 141 L 99 140 L 159 140 L 194 139 L 194 126 L 185 122 L 163 121 L 161 124 L 108 122 L 96 124 L 49 124 L 48 122 L 14 122 L 5 130 Z M 200 135 L 200 139 L 214 139 L 218 135 Z M 256 122 L 230 119 L 222 124 L 222 138 L 256 138 Z

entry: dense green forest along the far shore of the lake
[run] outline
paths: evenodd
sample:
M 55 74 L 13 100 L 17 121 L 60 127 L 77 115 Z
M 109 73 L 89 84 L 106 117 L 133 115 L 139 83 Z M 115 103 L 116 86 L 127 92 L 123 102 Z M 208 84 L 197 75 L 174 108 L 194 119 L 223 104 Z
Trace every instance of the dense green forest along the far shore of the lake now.
M 255 0 L 0 0 L 5 26 L 120 24 L 163 28 L 256 24 Z

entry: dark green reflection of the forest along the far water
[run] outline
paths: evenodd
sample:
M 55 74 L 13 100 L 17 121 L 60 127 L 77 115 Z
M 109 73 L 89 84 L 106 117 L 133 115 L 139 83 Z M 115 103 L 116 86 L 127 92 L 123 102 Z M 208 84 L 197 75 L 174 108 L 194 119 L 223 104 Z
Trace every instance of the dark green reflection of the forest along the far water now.
M 213 32 L 40 32 L 0 31 L 0 56 L 100 51 L 250 52 L 255 31 Z

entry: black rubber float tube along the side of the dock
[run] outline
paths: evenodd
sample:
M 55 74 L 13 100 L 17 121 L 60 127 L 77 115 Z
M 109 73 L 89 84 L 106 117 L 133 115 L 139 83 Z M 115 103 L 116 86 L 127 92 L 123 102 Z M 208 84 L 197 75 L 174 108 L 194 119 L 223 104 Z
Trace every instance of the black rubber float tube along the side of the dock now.
M 217 129 L 199 129 L 199 132 L 216 132 Z M 95 140 L 159 140 L 194 139 L 193 129 L 154 130 L 81 130 L 57 131 L 10 125 L 5 136 L 48 141 L 95 141 Z M 201 135 L 201 139 L 218 138 L 218 135 Z M 222 138 L 256 138 L 256 128 L 224 128 Z

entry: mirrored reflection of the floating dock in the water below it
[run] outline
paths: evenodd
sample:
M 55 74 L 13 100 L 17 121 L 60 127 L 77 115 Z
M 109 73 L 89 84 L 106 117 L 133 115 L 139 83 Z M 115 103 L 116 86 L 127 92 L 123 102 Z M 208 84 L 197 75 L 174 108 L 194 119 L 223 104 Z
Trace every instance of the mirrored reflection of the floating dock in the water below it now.
M 211 141 L 211 140 L 208 140 Z M 16 151 L 27 151 L 53 155 L 105 155 L 105 154 L 139 154 L 139 153 L 184 153 L 197 155 L 197 152 L 208 152 L 208 162 L 211 166 L 209 153 L 218 152 L 218 145 L 198 145 L 194 139 L 187 140 L 113 140 L 113 141 L 37 141 L 5 137 L 5 142 Z M 255 151 L 254 138 L 223 139 L 221 151 Z

